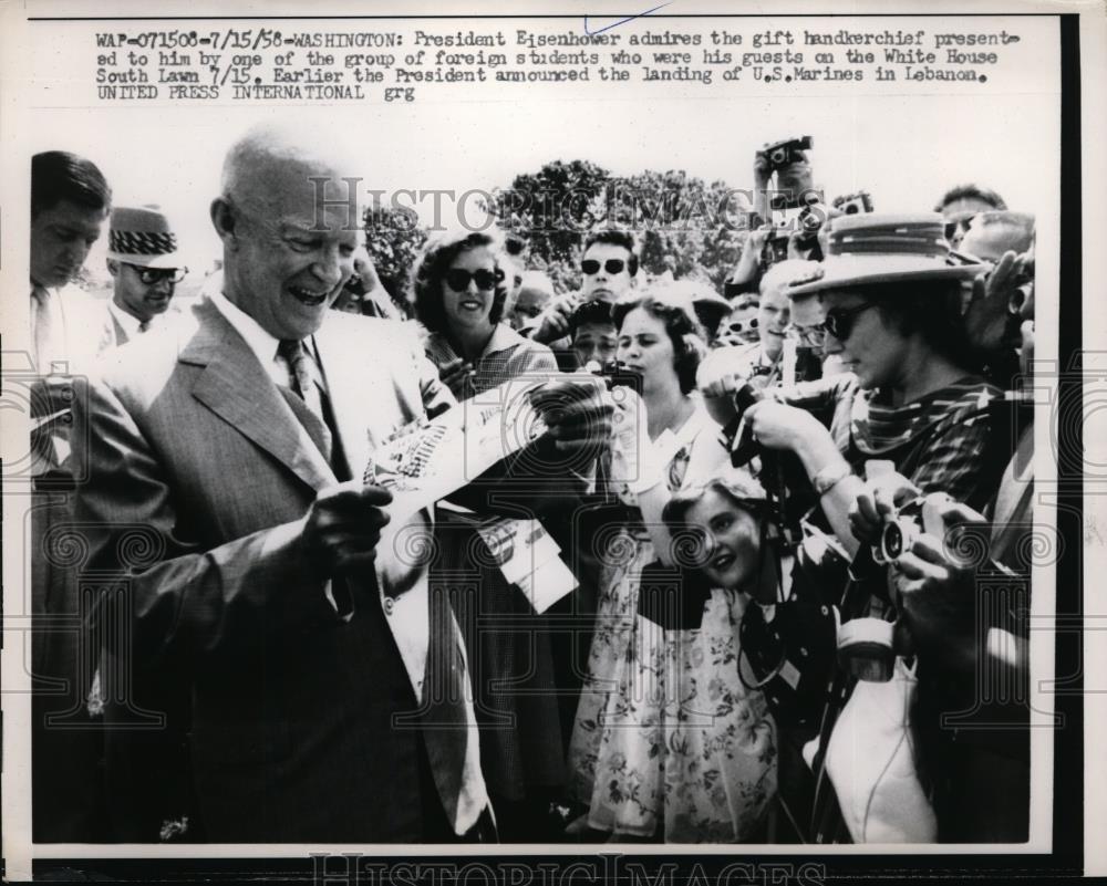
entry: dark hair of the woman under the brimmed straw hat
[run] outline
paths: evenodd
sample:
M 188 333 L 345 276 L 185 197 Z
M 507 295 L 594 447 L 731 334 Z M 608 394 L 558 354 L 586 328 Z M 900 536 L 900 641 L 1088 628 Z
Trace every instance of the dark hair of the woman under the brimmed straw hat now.
M 934 351 L 965 371 L 980 369 L 962 316 L 960 280 L 921 280 L 850 288 L 875 303 L 901 335 L 918 333 Z

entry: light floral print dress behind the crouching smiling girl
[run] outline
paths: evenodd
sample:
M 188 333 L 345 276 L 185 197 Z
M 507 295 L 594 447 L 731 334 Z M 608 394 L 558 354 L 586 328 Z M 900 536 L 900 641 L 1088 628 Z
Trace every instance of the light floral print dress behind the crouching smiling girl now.
M 716 432 L 702 407 L 681 428 L 671 490 L 711 476 Z M 666 630 L 638 614 L 642 569 L 655 560 L 644 528 L 622 527 L 604 546 L 569 749 L 572 794 L 596 830 L 671 843 L 749 840 L 776 794 L 776 729 L 762 694 L 738 679 L 746 597 L 716 588 L 697 629 Z

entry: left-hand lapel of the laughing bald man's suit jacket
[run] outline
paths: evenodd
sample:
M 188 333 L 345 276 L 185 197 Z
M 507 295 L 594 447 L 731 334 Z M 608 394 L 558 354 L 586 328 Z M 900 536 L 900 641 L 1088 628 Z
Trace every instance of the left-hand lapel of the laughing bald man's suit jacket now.
M 308 431 L 234 326 L 210 302 L 198 305 L 196 314 L 199 330 L 179 357 L 182 363 L 204 367 L 193 396 L 311 488 L 337 482 Z

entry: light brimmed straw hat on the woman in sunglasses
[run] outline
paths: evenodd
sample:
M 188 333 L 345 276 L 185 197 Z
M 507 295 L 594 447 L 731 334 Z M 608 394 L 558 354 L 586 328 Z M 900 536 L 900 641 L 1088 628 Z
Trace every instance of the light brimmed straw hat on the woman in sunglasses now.
M 826 258 L 810 277 L 796 280 L 788 295 L 828 289 L 920 280 L 969 280 L 990 265 L 950 250 L 943 218 L 861 213 L 830 222 Z

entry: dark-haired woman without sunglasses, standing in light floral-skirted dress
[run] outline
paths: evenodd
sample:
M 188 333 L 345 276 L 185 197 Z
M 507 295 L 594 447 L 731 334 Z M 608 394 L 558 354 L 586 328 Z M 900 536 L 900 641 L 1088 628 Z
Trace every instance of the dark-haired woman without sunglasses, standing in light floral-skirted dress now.
M 713 643 L 731 636 L 733 614 L 712 605 L 697 630 L 639 614 L 643 571 L 673 559 L 664 504 L 726 461 L 718 426 L 693 395 L 705 346 L 691 304 L 664 290 L 620 302 L 613 314 L 617 357 L 641 378 L 642 394 L 613 392 L 622 430 L 611 476 L 625 480 L 618 488 L 631 509 L 627 524 L 592 540 L 607 565 L 570 744 L 571 793 L 587 811 L 569 832 L 638 842 L 749 838 L 770 793 L 775 742 L 772 730 L 754 737 L 761 712 L 736 703 L 730 682 L 717 680 L 725 665 L 715 656 L 724 650 Z M 690 646 L 690 635 L 701 639 Z M 704 725 L 699 740 L 686 740 L 685 717 Z

